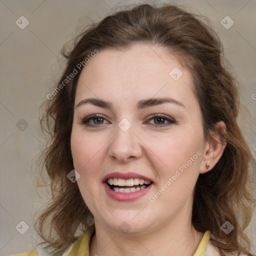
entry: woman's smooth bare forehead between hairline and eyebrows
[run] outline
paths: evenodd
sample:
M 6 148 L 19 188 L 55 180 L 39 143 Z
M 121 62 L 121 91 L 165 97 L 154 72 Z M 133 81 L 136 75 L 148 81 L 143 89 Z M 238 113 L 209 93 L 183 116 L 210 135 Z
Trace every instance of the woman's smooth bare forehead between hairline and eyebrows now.
M 192 78 L 175 56 L 159 46 L 137 44 L 126 50 L 100 50 L 82 69 L 76 103 L 84 96 L 137 98 L 192 96 Z M 86 95 L 85 95 L 86 94 Z

